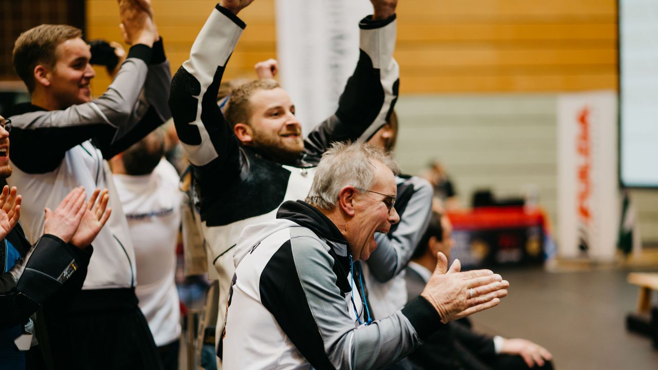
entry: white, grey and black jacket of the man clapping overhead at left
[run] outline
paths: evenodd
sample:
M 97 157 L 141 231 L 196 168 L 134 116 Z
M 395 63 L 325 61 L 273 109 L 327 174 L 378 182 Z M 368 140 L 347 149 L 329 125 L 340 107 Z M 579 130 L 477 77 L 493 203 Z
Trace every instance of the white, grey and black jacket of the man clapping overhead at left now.
M 135 286 L 135 253 L 114 188 L 109 159 L 170 117 L 171 73 L 162 40 L 133 45 L 107 92 L 89 103 L 58 111 L 25 104 L 11 117 L 13 174 L 22 194 L 20 221 L 30 242 L 43 234 L 43 208 L 55 209 L 76 186 L 88 196 L 109 189 L 112 215 L 96 236 L 83 289 Z

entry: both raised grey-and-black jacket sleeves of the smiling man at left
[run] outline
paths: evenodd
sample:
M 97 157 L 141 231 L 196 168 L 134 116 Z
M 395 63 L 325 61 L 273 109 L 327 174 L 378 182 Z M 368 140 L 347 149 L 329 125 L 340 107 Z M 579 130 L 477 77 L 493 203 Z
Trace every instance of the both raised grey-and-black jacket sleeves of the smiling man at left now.
M 112 84 L 97 99 L 55 111 L 18 109 L 20 113 L 11 117 L 11 160 L 28 173 L 54 171 L 68 149 L 90 139 L 109 158 L 170 118 L 169 86 L 162 40 L 153 48 L 133 45 Z

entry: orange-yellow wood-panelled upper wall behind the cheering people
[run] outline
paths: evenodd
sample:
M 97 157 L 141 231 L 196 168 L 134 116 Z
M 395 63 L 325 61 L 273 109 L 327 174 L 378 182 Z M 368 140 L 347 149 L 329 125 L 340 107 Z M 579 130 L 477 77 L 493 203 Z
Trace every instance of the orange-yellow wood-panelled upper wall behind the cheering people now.
M 308 0 L 330 1 L 330 0 Z M 354 0 L 366 1 L 366 0 Z M 153 0 L 175 71 L 215 3 Z M 616 0 L 399 0 L 401 93 L 559 92 L 617 88 Z M 247 30 L 227 76 L 276 55 L 274 0 L 240 13 Z M 88 0 L 88 38 L 120 39 L 116 0 Z M 93 86 L 109 79 L 101 71 Z

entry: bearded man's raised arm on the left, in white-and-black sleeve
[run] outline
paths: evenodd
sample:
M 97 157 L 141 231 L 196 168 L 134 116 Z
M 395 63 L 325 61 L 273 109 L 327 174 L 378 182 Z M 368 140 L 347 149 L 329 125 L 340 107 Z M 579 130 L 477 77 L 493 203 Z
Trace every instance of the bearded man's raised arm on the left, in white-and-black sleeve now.
M 245 28 L 236 14 L 251 1 L 221 1 L 172 80 L 169 107 L 195 177 L 205 188 L 237 174 L 240 146 L 216 103 L 226 63 Z M 222 6 L 223 5 L 223 6 Z

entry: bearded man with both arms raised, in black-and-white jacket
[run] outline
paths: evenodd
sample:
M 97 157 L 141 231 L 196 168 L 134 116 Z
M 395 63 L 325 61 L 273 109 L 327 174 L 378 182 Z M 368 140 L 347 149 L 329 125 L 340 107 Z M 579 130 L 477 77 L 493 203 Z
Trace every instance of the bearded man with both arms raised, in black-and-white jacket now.
M 322 153 L 333 142 L 367 140 L 386 123 L 397 98 L 397 1 L 370 0 L 374 14 L 359 24 L 359 62 L 338 110 L 306 140 L 290 96 L 274 80 L 257 80 L 234 90 L 224 117 L 216 95 L 246 26 L 236 14 L 252 1 L 222 0 L 216 5 L 192 45 L 190 59 L 174 76 L 169 100 L 178 136 L 193 165 L 209 263 L 219 281 L 219 332 L 235 269 L 232 248 L 243 228 L 274 219 L 286 200 L 304 199 Z

